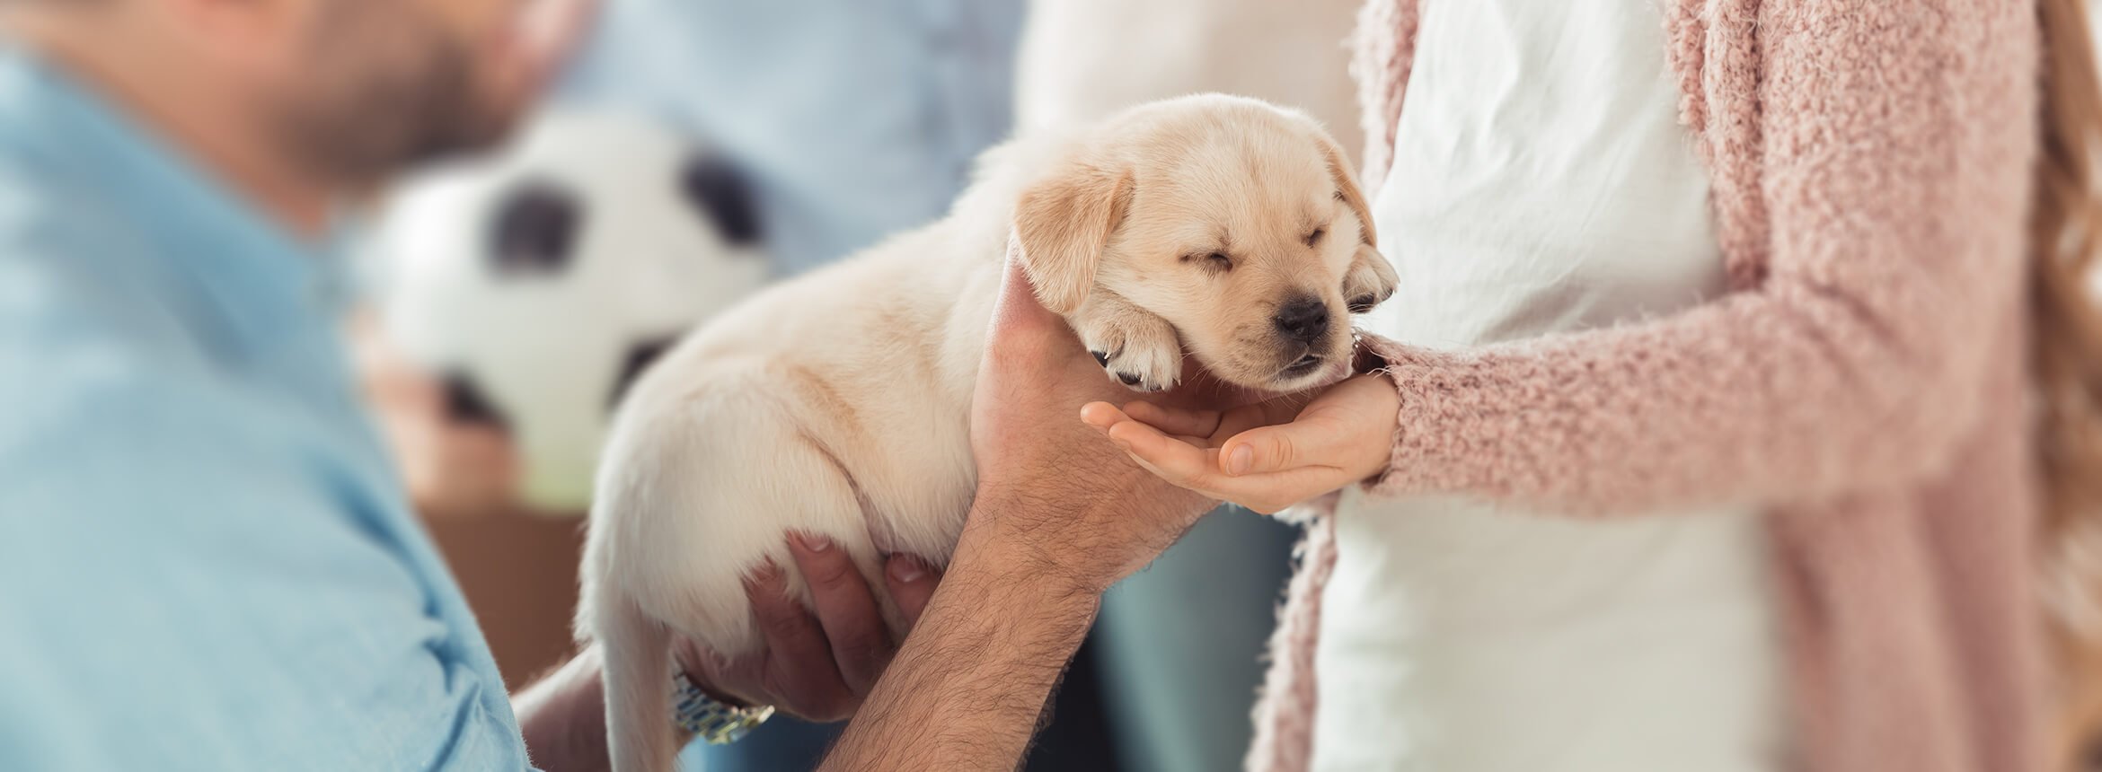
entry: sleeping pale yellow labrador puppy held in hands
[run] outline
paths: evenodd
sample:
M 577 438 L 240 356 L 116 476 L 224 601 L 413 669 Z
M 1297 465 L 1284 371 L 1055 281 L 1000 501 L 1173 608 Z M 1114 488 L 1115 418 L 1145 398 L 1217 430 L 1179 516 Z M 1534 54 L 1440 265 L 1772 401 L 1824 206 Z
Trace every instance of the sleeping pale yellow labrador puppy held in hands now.
M 982 159 L 954 210 L 780 283 L 692 334 L 631 390 L 599 470 L 578 634 L 605 652 L 614 768 L 668 770 L 668 636 L 761 644 L 742 577 L 784 539 L 946 560 L 971 503 L 969 403 L 1009 252 L 1108 378 L 1175 386 L 1186 352 L 1270 392 L 1349 371 L 1349 313 L 1394 269 L 1343 151 L 1240 97 L 1127 109 Z

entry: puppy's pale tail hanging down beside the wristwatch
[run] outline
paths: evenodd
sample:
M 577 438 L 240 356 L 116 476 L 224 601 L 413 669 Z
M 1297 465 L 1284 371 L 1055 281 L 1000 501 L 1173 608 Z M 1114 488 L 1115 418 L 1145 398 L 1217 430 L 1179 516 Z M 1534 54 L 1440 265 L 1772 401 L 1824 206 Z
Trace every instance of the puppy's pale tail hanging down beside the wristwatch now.
M 605 738 L 614 772 L 677 770 L 671 724 L 671 631 L 628 598 L 601 604 Z

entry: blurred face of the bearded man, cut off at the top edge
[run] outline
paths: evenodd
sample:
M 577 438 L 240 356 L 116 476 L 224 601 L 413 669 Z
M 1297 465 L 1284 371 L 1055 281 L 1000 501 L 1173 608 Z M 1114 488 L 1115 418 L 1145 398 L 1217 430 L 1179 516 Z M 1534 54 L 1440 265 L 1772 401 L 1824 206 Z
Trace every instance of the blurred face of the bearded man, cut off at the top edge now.
M 309 174 L 351 189 L 492 145 L 553 65 L 553 46 L 528 34 L 528 6 L 311 0 L 294 61 L 267 80 L 265 120 Z

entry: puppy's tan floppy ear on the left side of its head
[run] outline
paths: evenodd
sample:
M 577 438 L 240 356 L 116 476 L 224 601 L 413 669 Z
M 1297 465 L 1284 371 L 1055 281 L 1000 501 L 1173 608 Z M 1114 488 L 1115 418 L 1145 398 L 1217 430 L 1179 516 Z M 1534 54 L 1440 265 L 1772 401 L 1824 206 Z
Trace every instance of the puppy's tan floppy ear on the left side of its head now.
M 1095 285 L 1095 262 L 1110 233 L 1131 208 L 1131 174 L 1087 162 L 1066 162 L 1015 203 L 1015 239 L 1022 269 L 1036 285 L 1036 300 L 1070 315 Z

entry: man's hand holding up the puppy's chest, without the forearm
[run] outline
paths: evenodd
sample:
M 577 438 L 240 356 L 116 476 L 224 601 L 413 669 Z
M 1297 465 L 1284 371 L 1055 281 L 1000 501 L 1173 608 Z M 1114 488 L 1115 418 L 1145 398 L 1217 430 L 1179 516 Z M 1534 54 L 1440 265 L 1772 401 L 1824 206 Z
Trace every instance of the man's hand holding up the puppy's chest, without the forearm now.
M 1186 367 L 1165 403 L 1198 409 L 1228 399 L 1194 363 Z M 1080 422 L 1080 405 L 1127 394 L 1009 260 L 971 401 L 980 503 L 967 529 L 998 531 L 994 541 L 1085 594 L 1175 543 L 1217 501 L 1165 485 Z

